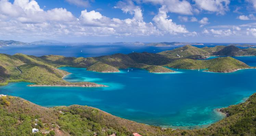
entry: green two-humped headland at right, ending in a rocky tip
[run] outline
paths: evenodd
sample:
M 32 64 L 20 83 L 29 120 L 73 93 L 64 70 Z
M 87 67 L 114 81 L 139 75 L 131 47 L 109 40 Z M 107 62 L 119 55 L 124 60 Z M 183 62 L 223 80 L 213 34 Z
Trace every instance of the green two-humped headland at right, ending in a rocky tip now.
M 192 59 L 181 59 L 175 60 L 165 66 L 170 68 L 181 68 L 181 69 L 208 69 L 213 72 L 233 72 L 237 69 L 250 68 L 245 63 L 236 60 L 232 57 L 219 57 L 212 60 L 192 60 Z

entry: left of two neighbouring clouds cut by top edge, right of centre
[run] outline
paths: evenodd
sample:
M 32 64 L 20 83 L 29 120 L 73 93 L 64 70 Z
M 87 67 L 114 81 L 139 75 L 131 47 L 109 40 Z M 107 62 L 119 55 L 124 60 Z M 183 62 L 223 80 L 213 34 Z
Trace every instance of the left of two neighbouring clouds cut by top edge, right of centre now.
M 166 5 L 168 12 L 192 15 L 192 5 L 186 0 L 142 0 L 142 2 L 150 2 L 153 4 Z

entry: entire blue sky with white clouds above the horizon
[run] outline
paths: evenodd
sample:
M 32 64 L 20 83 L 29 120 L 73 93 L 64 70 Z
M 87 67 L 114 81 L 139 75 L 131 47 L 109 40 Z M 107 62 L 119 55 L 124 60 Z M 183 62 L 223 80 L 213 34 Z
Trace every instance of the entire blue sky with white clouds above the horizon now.
M 0 0 L 0 39 L 256 43 L 256 0 Z

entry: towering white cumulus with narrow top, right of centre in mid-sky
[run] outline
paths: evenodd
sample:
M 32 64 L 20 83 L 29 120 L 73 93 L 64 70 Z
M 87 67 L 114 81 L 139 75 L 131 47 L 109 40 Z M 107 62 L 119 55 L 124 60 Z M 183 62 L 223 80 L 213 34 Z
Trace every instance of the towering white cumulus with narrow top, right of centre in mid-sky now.
M 171 19 L 168 19 L 167 12 L 168 10 L 166 6 L 162 6 L 159 8 L 158 14 L 154 16 L 153 21 L 158 29 L 169 32 L 170 34 L 189 32 L 184 26 L 177 25 L 176 23 L 172 22 Z

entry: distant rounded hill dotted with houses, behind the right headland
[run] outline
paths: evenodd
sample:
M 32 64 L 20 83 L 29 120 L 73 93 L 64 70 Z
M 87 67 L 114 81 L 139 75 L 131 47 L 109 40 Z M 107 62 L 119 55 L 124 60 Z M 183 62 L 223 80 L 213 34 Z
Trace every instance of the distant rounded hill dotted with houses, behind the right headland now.
M 168 57 L 170 59 L 180 59 L 180 58 L 197 59 L 197 58 L 204 58 L 205 56 L 210 55 L 209 52 L 191 45 L 186 45 L 186 46 L 169 50 L 169 51 L 159 52 L 158 54 L 164 55 L 165 57 Z

